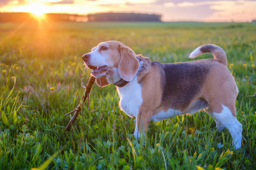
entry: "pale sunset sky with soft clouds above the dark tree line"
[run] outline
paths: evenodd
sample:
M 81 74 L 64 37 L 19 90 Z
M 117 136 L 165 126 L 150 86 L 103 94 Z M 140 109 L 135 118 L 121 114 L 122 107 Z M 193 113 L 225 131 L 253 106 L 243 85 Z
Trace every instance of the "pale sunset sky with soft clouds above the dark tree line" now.
M 135 12 L 162 15 L 166 22 L 251 22 L 256 0 L 0 0 L 0 12 Z

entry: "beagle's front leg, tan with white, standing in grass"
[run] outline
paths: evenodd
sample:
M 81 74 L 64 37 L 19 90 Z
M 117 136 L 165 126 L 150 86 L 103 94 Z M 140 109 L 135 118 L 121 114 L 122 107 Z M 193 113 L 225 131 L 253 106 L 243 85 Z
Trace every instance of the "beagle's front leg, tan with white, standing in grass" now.
M 137 140 L 141 136 L 141 133 L 143 133 L 144 136 L 146 135 L 148 123 L 152 114 L 152 111 L 147 110 L 145 107 L 140 107 L 139 113 L 136 116 L 136 127 L 134 131 L 134 136 Z

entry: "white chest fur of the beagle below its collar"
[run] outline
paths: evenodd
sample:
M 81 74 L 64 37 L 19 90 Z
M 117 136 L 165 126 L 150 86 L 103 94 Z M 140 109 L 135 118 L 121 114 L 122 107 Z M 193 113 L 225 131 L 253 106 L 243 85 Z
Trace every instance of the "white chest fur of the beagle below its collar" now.
M 128 116 L 136 117 L 142 104 L 142 87 L 137 82 L 137 76 L 127 85 L 117 87 L 120 97 L 119 106 Z

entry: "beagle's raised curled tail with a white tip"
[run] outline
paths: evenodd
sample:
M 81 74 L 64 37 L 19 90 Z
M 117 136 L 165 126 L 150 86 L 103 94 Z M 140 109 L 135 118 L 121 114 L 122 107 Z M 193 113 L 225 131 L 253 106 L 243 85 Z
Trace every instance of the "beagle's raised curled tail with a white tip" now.
M 227 57 L 225 52 L 222 48 L 214 44 L 205 44 L 197 47 L 194 51 L 192 51 L 189 58 L 195 58 L 205 52 L 212 53 L 214 59 L 227 66 Z

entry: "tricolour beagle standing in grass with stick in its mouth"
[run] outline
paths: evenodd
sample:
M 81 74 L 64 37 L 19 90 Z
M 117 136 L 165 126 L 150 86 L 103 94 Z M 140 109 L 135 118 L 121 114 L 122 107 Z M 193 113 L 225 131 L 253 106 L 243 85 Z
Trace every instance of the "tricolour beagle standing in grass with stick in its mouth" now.
M 159 121 L 204 109 L 225 127 L 235 149 L 241 147 L 242 125 L 236 118 L 238 87 L 227 68 L 225 52 L 217 45 L 202 45 L 190 58 L 212 53 L 214 59 L 162 64 L 136 55 L 118 41 L 101 42 L 82 59 L 99 86 L 116 85 L 119 106 L 136 118 L 134 136 L 145 135 L 150 120 Z

